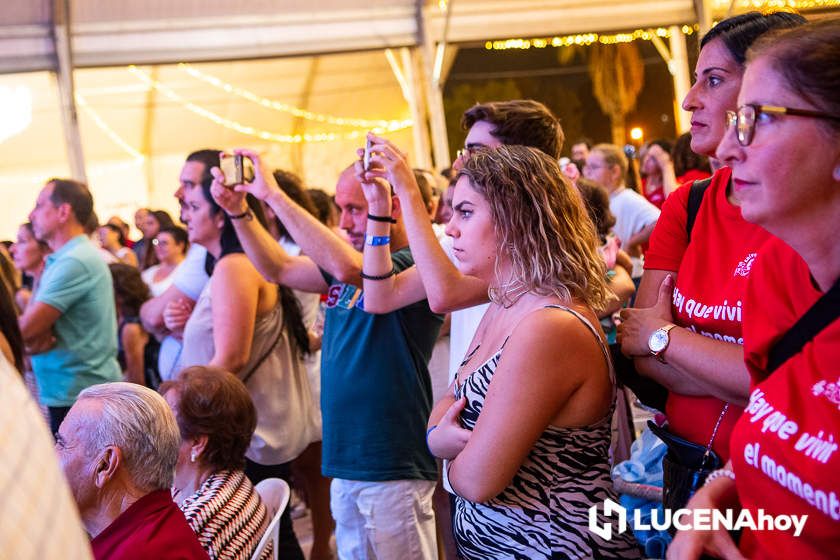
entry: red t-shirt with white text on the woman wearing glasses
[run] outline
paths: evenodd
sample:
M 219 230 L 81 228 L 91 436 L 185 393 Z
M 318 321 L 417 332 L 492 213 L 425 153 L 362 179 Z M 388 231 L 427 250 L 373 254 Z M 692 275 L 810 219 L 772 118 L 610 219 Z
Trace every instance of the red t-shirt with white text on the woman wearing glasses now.
M 769 515 L 807 515 L 799 537 L 750 531 L 750 558 L 840 555 L 840 320 L 767 376 L 773 345 L 822 296 L 808 266 L 778 239 L 759 253 L 744 303 L 750 404 L 732 433 L 732 467 L 741 505 Z

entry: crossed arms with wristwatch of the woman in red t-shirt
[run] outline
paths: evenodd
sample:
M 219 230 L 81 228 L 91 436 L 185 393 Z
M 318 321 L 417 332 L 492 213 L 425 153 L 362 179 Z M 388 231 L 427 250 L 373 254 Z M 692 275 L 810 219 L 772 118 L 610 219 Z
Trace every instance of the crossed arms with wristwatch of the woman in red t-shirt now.
M 667 278 L 670 276 L 670 280 Z M 670 391 L 683 395 L 714 396 L 744 406 L 749 373 L 739 344 L 723 342 L 682 327 L 671 329 L 665 351 L 667 364 L 649 356 L 648 339 L 655 330 L 673 323 L 671 299 L 676 272 L 646 270 L 634 309 L 621 311 L 621 349 L 635 358 L 636 368 Z

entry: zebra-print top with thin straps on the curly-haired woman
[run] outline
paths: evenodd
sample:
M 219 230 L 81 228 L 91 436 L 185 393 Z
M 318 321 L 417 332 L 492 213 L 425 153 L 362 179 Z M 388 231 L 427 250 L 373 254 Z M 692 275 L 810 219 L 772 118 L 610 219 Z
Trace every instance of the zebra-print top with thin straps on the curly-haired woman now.
M 579 313 L 562 306 L 551 307 L 573 313 L 598 337 L 589 321 Z M 598 340 L 600 342 L 600 337 Z M 601 348 L 609 360 L 603 344 Z M 455 389 L 456 399 L 467 397 L 461 412 L 461 425 L 466 429 L 472 430 L 475 426 L 503 349 L 504 344 Z M 612 489 L 609 464 L 614 402 L 609 413 L 590 426 L 549 426 L 534 444 L 510 486 L 495 498 L 475 503 L 455 495 L 453 532 L 461 558 L 640 557 L 632 534 L 628 531 L 619 535 L 617 526 L 603 516 L 601 508 L 606 498 L 618 501 Z M 446 479 L 447 467 L 445 464 L 444 485 L 451 488 Z M 609 541 L 588 529 L 589 508 L 595 504 L 599 506 L 599 523 L 613 524 Z

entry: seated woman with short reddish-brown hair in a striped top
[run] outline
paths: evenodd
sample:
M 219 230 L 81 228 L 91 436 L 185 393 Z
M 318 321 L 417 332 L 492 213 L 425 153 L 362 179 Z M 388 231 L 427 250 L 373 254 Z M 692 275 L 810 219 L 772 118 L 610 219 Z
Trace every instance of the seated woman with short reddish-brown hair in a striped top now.
M 181 432 L 175 503 L 211 560 L 249 560 L 270 519 L 243 472 L 257 425 L 248 390 L 222 369 L 196 366 L 160 392 Z M 261 558 L 272 558 L 270 550 Z

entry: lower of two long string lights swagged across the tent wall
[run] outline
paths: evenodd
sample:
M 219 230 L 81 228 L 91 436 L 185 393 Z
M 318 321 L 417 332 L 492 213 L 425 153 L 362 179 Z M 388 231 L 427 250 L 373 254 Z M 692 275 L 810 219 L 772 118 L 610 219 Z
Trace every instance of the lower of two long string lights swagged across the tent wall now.
M 134 65 L 129 66 L 127 69 L 137 79 L 141 80 L 149 87 L 154 88 L 158 92 L 162 93 L 164 96 L 171 99 L 172 101 L 178 103 L 188 111 L 195 113 L 196 115 L 199 115 L 200 117 L 203 117 L 219 126 L 227 128 L 229 130 L 234 130 L 246 136 L 253 136 L 261 140 L 277 142 L 279 144 L 300 144 L 302 142 L 334 142 L 336 140 L 342 139 L 355 140 L 357 138 L 362 138 L 365 135 L 364 130 L 354 130 L 353 132 L 347 133 L 323 132 L 318 134 L 278 134 L 276 132 L 271 132 L 253 126 L 244 125 L 237 121 L 226 119 L 209 109 L 205 109 L 204 107 L 201 107 L 200 105 L 185 99 L 181 95 L 175 93 L 175 91 L 172 88 L 163 84 L 162 82 L 159 82 L 158 80 L 155 80 L 146 72 L 143 72 Z M 411 126 L 410 121 L 408 121 L 408 123 L 405 124 L 405 126 L 403 126 L 402 128 L 408 128 L 409 126 Z M 380 127 L 372 127 L 370 130 L 376 134 L 381 134 L 383 132 L 394 132 L 395 130 L 400 129 L 391 129 L 386 131 L 385 129 L 382 129 Z

